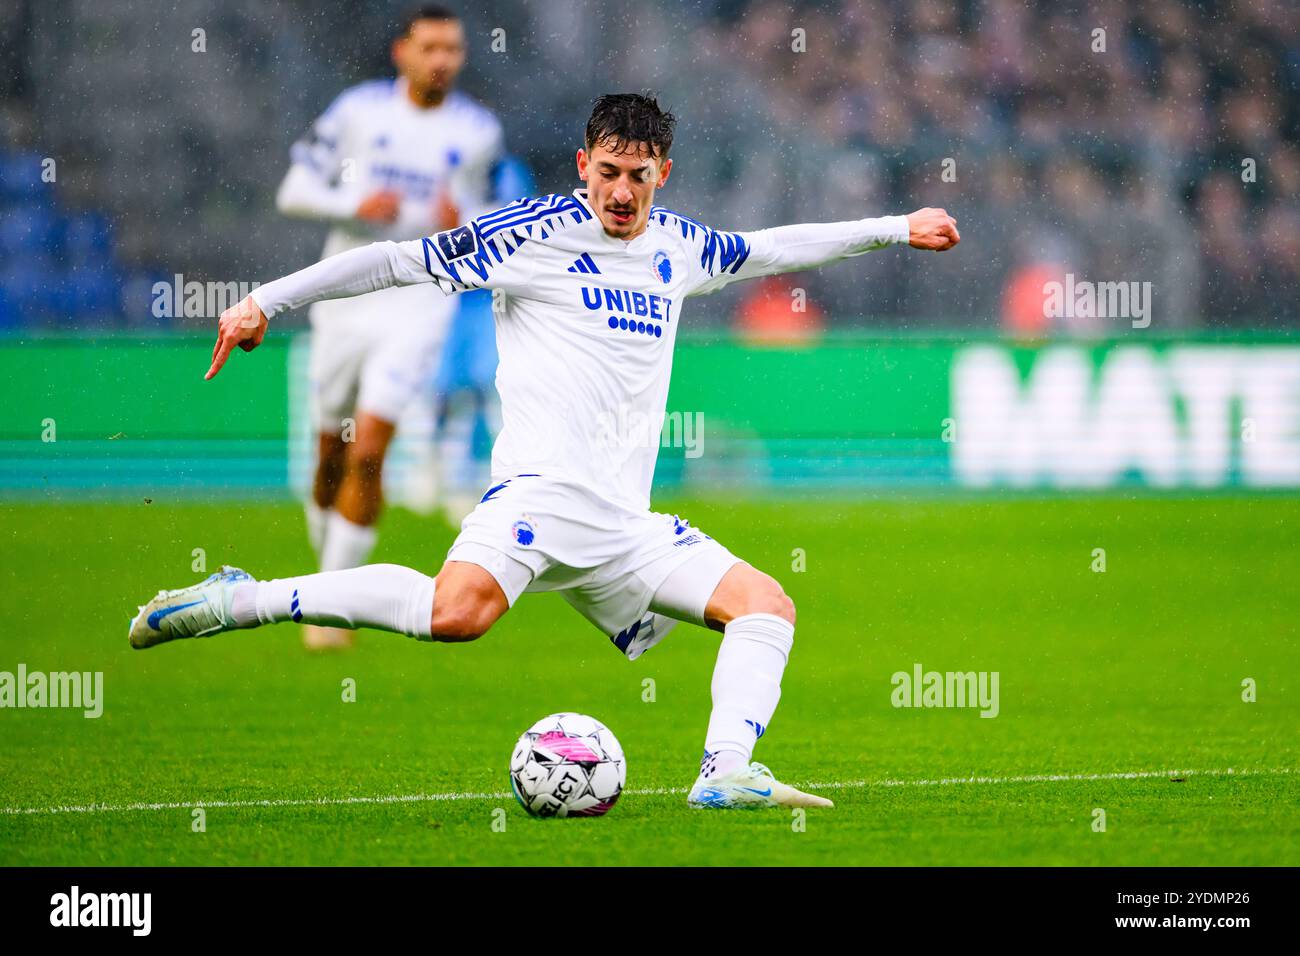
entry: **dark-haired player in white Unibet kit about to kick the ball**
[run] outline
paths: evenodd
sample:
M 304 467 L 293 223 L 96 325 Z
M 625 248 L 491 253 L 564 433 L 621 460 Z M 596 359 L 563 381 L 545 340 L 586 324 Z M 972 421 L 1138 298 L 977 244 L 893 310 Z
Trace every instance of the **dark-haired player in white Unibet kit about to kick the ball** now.
M 422 241 L 344 252 L 222 313 L 209 377 L 237 345 L 256 347 L 286 308 L 407 284 L 497 290 L 503 428 L 493 484 L 436 579 L 372 564 L 257 581 L 224 567 L 144 605 L 131 645 L 281 620 L 467 641 L 523 592 L 559 591 L 629 658 L 677 620 L 723 632 L 690 806 L 829 806 L 751 762 L 780 697 L 793 602 L 699 528 L 650 510 L 658 431 L 620 423 L 662 424 L 689 297 L 892 245 L 942 251 L 959 241 L 957 222 L 927 208 L 718 232 L 654 204 L 672 169 L 672 131 L 654 99 L 602 96 L 577 151 L 585 189 L 511 203 Z

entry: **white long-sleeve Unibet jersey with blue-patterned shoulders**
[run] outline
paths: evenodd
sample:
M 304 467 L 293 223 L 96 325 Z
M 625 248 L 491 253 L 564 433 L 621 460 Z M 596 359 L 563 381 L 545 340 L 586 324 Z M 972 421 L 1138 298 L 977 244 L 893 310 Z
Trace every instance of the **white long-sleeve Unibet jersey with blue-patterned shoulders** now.
M 630 241 L 586 200 L 521 199 L 412 242 L 378 242 L 268 282 L 268 317 L 325 298 L 433 282 L 493 289 L 503 428 L 493 480 L 547 475 L 645 511 L 684 302 L 742 278 L 907 242 L 906 216 L 727 233 L 655 206 Z

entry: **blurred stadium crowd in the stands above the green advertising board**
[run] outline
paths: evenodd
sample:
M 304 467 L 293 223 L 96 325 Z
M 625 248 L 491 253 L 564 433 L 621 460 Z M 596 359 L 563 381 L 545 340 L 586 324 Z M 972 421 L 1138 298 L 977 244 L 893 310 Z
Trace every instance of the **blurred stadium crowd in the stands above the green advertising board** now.
M 391 73 L 406 5 L 8 0 L 0 326 L 183 324 L 153 315 L 155 282 L 313 261 L 322 229 L 273 206 L 289 146 L 343 86 Z M 680 116 L 670 208 L 729 229 L 923 204 L 961 221 L 957 255 L 742 284 L 698 325 L 762 323 L 802 287 L 810 326 L 1123 333 L 1043 319 L 1043 281 L 1067 272 L 1152 282 L 1157 326 L 1300 324 L 1294 3 L 460 7 L 463 88 L 543 191 L 577 185 L 594 95 L 654 88 Z

